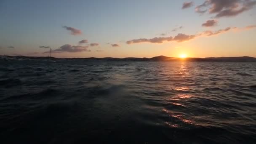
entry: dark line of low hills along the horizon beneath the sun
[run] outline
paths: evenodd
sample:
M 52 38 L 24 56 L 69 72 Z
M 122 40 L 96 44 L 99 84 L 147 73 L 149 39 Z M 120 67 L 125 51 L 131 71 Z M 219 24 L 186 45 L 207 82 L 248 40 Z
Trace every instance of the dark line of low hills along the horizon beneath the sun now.
M 35 57 L 35 56 L 0 56 L 2 60 L 36 60 L 36 59 L 80 59 L 80 60 L 98 60 L 98 61 L 237 61 L 237 62 L 256 62 L 256 58 L 250 56 L 240 56 L 240 57 L 208 57 L 208 58 L 176 58 L 176 57 L 167 57 L 167 56 L 155 56 L 152 58 L 55 58 L 55 57 Z

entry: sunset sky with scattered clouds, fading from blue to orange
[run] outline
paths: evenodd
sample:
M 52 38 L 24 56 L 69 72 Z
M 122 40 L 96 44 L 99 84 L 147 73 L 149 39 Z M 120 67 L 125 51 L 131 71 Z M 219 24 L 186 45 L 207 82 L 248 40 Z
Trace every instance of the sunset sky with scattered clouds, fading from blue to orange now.
M 0 55 L 256 57 L 256 0 L 0 0 Z

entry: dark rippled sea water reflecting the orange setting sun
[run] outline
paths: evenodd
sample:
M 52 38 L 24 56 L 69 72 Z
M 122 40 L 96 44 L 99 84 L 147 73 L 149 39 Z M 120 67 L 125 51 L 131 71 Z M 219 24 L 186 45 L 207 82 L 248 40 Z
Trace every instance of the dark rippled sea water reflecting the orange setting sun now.
M 255 144 L 256 63 L 0 61 L 1 144 Z

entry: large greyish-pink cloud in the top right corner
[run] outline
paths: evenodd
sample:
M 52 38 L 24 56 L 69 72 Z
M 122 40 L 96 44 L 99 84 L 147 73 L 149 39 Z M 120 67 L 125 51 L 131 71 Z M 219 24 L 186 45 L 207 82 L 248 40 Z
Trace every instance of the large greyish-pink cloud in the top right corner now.
M 216 18 L 237 16 L 244 11 L 248 11 L 256 5 L 255 0 L 205 0 L 195 8 L 197 13 L 216 14 Z

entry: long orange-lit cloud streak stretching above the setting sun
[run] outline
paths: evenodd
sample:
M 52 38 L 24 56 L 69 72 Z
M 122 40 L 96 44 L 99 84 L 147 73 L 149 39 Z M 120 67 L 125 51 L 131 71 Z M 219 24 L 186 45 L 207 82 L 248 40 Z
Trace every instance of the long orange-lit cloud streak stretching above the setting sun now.
M 151 39 L 147 39 L 147 38 L 140 38 L 140 39 L 134 39 L 134 40 L 128 40 L 126 41 L 127 44 L 134 44 L 134 43 L 164 43 L 164 42 L 178 42 L 178 43 L 182 43 L 184 41 L 189 41 L 192 39 L 195 39 L 197 37 L 201 37 L 201 36 L 206 36 L 206 37 L 210 37 L 213 35 L 219 35 L 225 32 L 228 32 L 230 30 L 248 30 L 248 29 L 253 29 L 256 28 L 256 25 L 251 25 L 251 26 L 247 26 L 244 28 L 237 28 L 237 27 L 227 27 L 225 29 L 219 29 L 216 31 L 211 31 L 211 30 L 207 30 L 207 31 L 203 31 L 199 34 L 195 34 L 195 35 L 186 35 L 186 34 L 181 34 L 179 33 L 178 35 L 176 35 L 175 37 L 155 37 L 155 38 L 151 38 Z

